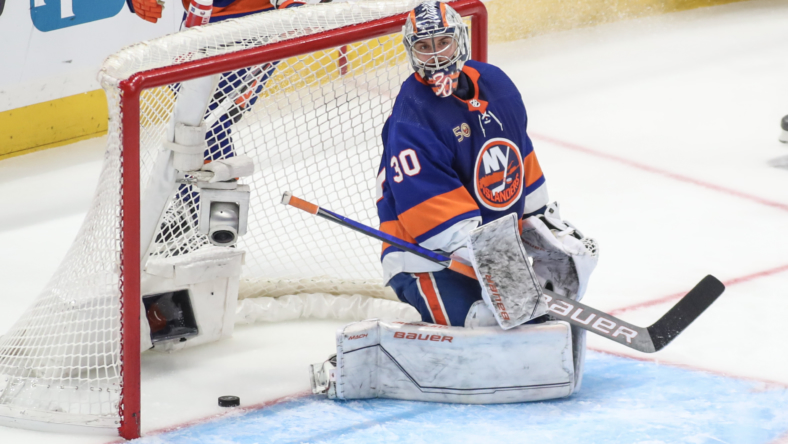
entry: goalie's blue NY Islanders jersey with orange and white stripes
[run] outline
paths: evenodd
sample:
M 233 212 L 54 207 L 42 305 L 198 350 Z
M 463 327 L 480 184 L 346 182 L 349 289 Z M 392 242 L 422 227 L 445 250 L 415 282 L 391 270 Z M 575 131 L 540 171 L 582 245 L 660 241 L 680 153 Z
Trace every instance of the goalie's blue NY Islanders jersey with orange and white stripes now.
M 468 61 L 463 73 L 473 85 L 468 100 L 440 98 L 411 75 L 382 133 L 380 230 L 442 252 L 464 246 L 480 223 L 521 218 L 548 202 L 517 87 L 486 63 Z M 386 282 L 443 268 L 386 243 L 381 260 Z

